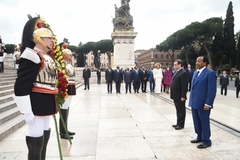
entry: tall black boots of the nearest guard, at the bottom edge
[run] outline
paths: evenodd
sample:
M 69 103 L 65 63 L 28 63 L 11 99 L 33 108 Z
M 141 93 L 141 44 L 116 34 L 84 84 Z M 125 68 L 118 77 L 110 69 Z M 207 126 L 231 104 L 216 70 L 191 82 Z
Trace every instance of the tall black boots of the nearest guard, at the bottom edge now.
M 26 143 L 28 147 L 28 160 L 42 160 L 44 136 L 29 137 L 26 136 Z

